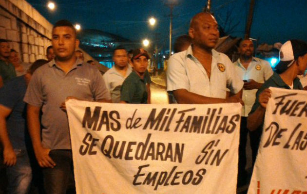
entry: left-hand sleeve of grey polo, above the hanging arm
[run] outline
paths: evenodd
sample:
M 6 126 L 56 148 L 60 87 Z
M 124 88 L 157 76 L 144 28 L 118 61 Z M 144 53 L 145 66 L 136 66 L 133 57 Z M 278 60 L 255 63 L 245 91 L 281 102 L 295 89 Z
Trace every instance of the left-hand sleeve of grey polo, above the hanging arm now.
M 42 83 L 38 70 L 31 77 L 23 101 L 37 107 L 40 107 L 43 103 Z

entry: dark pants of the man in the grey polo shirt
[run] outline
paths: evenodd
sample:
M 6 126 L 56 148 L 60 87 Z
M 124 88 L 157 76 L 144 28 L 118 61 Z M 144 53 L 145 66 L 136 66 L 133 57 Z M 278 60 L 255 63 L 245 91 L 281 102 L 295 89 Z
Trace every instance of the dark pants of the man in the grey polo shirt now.
M 66 194 L 69 180 L 73 178 L 73 158 L 71 150 L 51 150 L 49 156 L 56 163 L 54 168 L 43 168 L 46 194 Z

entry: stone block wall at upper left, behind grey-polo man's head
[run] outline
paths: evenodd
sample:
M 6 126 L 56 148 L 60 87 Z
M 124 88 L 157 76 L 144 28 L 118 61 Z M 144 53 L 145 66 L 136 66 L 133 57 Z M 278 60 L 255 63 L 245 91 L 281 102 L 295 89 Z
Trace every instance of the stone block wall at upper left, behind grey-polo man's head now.
M 52 27 L 26 0 L 0 0 L 0 39 L 9 40 L 11 48 L 19 52 L 24 63 L 46 59 Z M 83 53 L 85 61 L 95 61 L 102 72 L 108 70 L 86 52 Z

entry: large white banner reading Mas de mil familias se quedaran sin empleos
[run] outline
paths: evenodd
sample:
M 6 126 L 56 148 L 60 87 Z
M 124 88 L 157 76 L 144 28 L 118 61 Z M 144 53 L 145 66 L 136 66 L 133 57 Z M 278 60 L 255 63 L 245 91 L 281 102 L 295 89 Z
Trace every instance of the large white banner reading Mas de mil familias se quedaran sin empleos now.
M 241 105 L 66 102 L 77 194 L 235 194 Z

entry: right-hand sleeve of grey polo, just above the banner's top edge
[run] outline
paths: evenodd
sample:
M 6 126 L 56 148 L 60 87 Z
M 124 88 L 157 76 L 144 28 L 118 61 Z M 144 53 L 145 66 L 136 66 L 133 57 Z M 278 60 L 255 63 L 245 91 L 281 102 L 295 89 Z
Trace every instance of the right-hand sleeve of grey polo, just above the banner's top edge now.
M 111 99 L 111 95 L 107 89 L 106 83 L 104 82 L 102 75 L 97 69 L 95 69 L 95 80 L 93 81 L 92 85 L 92 93 L 95 100 Z

